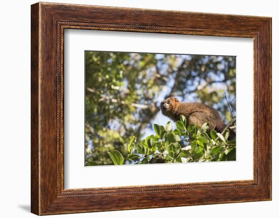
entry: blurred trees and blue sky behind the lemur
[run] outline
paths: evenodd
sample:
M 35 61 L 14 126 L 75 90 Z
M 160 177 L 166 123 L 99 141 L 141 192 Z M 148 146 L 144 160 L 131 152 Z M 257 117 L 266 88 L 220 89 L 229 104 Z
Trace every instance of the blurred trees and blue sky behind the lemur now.
M 233 56 L 86 51 L 85 164 L 111 165 L 107 152 L 125 156 L 132 136 L 140 140 L 154 122 L 165 125 L 159 105 L 170 96 L 210 105 L 230 122 L 235 64 Z

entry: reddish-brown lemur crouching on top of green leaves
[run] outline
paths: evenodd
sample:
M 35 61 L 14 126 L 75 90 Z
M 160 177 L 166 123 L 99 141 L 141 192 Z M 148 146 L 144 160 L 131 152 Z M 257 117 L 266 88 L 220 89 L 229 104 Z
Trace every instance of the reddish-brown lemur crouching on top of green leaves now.
M 175 122 L 180 120 L 180 115 L 184 115 L 187 120 L 187 126 L 192 123 L 201 126 L 203 123 L 208 122 L 210 124 L 209 131 L 215 129 L 218 133 L 222 133 L 226 127 L 218 111 L 202 103 L 179 102 L 177 98 L 170 97 L 161 102 L 161 111 L 162 114 Z M 235 139 L 233 130 L 228 129 L 230 132 L 228 139 Z

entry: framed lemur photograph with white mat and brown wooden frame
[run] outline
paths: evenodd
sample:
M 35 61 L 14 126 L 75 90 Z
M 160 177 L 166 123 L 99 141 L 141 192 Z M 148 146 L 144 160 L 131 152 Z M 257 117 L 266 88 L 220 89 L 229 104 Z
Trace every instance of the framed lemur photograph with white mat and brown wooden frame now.
M 31 212 L 271 200 L 271 18 L 31 6 Z

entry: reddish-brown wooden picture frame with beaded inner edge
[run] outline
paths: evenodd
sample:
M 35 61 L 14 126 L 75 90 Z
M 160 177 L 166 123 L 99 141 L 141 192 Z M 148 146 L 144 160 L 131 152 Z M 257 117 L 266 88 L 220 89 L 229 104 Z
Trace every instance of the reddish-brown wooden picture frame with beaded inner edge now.
M 253 38 L 254 179 L 65 190 L 63 33 L 66 28 Z M 32 213 L 260 200 L 271 200 L 271 18 L 52 3 L 31 6 Z

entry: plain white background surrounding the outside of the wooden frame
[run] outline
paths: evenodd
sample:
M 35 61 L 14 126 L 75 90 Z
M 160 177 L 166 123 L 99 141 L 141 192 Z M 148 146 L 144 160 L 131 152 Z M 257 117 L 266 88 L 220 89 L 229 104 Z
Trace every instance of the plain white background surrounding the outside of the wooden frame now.
M 206 206 L 53 215 L 49 217 L 276 217 L 279 214 L 279 14 L 276 1 L 66 0 L 60 3 L 118 6 L 272 17 L 273 200 Z M 0 7 L 0 216 L 36 217 L 30 210 L 30 5 L 36 1 L 3 1 Z M 277 94 L 277 95 L 276 95 Z

